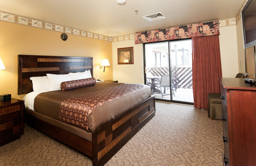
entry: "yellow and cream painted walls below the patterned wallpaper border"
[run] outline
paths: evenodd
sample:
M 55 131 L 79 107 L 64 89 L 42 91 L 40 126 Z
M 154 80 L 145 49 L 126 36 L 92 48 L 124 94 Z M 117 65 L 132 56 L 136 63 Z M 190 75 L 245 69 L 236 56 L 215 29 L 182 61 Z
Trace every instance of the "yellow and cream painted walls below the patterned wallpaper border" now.
M 0 94 L 10 93 L 18 99 L 24 97 L 17 93 L 18 54 L 93 57 L 93 76 L 96 79 L 144 83 L 143 44 L 134 44 L 134 40 L 109 42 L 68 34 L 68 40 L 62 41 L 60 32 L 4 21 L 0 21 L 0 27 L 0 57 L 6 67 L 6 70 L 0 70 Z M 241 21 L 236 26 L 220 27 L 223 77 L 235 77 L 237 72 L 244 72 L 241 29 Z M 133 47 L 134 64 L 117 64 L 117 48 L 123 47 Z M 103 58 L 108 58 L 110 62 L 104 73 L 103 69 L 99 69 Z

